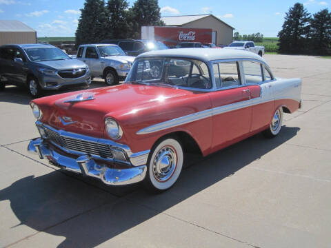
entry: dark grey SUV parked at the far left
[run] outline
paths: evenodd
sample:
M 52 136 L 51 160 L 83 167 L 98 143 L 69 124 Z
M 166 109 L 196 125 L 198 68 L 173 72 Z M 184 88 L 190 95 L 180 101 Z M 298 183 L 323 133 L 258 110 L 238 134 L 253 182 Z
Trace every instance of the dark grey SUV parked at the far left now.
M 88 87 L 90 70 L 53 45 L 25 44 L 0 47 L 0 90 L 7 84 L 27 87 L 32 97 L 43 90 Z

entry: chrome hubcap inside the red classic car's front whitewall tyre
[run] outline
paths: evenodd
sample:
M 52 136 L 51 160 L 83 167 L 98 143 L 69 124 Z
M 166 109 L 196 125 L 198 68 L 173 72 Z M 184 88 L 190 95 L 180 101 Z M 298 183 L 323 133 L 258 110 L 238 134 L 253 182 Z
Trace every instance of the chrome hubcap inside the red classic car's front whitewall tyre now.
M 177 154 L 170 146 L 163 147 L 157 153 L 153 163 L 153 174 L 159 182 L 165 182 L 174 174 L 177 166 Z

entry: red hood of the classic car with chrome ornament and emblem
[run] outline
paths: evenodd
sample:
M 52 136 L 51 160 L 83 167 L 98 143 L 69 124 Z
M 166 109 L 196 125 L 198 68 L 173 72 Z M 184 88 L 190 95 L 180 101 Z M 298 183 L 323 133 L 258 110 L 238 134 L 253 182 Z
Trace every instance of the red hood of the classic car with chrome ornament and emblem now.
M 174 87 L 126 83 L 44 97 L 34 102 L 41 107 L 43 123 L 68 132 L 101 138 L 105 127 L 105 116 L 121 122 L 121 116 L 126 116 L 135 110 L 164 105 L 171 99 L 185 97 L 188 94 L 192 92 Z M 83 101 L 74 103 L 77 98 Z

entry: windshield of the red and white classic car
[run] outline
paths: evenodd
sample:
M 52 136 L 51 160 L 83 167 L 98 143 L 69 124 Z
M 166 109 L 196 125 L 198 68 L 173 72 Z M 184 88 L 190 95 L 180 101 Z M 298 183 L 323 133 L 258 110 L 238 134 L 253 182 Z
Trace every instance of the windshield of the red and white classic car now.
M 134 61 L 126 83 L 210 89 L 208 66 L 195 59 L 142 58 Z

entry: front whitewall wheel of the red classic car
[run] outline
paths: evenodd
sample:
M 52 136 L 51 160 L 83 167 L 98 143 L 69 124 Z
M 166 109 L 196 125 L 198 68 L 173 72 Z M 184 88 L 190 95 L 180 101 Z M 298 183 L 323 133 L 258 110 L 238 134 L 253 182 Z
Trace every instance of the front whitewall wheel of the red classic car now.
M 176 183 L 183 167 L 183 148 L 174 138 L 157 143 L 148 158 L 145 186 L 154 192 L 163 192 Z

